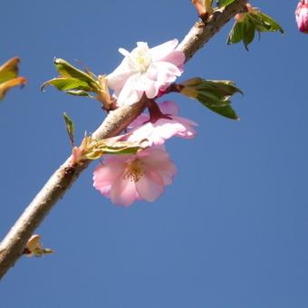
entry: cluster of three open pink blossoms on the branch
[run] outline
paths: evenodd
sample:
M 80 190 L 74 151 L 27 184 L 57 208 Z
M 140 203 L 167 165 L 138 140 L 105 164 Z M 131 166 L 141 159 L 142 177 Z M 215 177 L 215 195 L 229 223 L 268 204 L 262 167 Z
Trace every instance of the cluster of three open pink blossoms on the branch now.
M 174 101 L 156 101 L 183 72 L 185 55 L 177 46 L 174 39 L 153 48 L 139 42 L 131 52 L 120 48 L 124 59 L 107 75 L 118 107 L 146 95 L 149 110 L 130 124 L 128 134 L 129 141 L 148 140 L 149 148 L 136 154 L 107 156 L 94 170 L 94 188 L 117 205 L 127 207 L 135 200 L 157 199 L 177 173 L 165 141 L 173 136 L 191 139 L 196 135 L 197 124 L 179 117 Z

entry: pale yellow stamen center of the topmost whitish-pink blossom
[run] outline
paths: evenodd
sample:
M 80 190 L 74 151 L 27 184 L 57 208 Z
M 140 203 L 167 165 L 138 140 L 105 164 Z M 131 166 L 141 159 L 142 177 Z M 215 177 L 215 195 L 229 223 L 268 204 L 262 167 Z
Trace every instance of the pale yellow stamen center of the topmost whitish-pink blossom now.
M 129 55 L 130 67 L 136 72 L 147 72 L 151 63 L 148 43 L 139 42 Z

